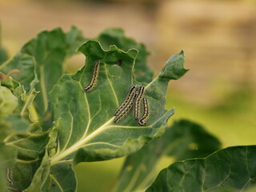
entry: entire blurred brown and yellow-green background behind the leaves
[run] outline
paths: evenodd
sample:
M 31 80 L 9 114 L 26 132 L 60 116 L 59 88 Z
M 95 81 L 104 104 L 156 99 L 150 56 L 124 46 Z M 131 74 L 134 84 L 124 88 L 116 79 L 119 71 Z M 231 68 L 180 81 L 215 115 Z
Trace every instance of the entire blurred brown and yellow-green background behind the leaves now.
M 222 146 L 256 144 L 256 1 L 0 0 L 0 45 L 11 57 L 41 30 L 78 26 L 88 38 L 110 27 L 144 42 L 155 74 L 171 54 L 186 53 L 190 71 L 170 82 L 166 109 L 202 124 Z M 66 69 L 84 63 L 71 58 Z M 110 191 L 124 158 L 76 166 L 78 192 Z M 158 170 L 172 159 L 162 158 Z

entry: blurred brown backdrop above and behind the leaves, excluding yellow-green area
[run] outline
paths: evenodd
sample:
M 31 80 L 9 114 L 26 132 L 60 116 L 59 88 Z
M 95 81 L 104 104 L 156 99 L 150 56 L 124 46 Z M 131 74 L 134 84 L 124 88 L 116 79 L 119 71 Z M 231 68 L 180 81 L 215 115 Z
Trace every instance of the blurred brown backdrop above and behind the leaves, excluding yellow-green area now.
M 2 45 L 13 55 L 44 29 L 74 25 L 94 38 L 106 28 L 122 27 L 127 36 L 146 44 L 156 73 L 171 54 L 185 51 L 191 70 L 173 87 L 191 102 L 211 105 L 219 102 L 219 93 L 222 97 L 245 83 L 255 87 L 254 1 L 138 2 L 0 0 Z M 74 68 L 83 60 L 74 59 Z

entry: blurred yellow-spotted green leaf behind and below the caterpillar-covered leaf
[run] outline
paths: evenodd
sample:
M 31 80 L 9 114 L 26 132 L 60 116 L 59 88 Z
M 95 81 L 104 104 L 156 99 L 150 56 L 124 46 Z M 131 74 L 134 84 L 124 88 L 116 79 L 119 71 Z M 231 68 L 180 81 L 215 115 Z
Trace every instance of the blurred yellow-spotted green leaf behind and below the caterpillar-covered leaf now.
M 161 138 L 126 158 L 116 191 L 145 190 L 154 180 L 154 167 L 163 155 L 181 160 L 202 158 L 219 149 L 221 143 L 202 126 L 187 120 L 167 126 Z

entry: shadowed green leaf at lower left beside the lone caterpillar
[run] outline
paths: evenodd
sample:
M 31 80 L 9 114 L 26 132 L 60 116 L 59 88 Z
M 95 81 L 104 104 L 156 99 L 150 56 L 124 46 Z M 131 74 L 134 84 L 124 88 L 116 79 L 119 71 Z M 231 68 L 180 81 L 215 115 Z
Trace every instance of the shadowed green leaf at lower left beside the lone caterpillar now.
M 10 167 L 14 182 L 11 187 L 16 190 L 25 190 L 30 186 L 35 172 L 41 165 L 48 142 L 48 134 L 14 134 L 7 137 L 4 142 L 6 142 L 6 146 L 18 150 L 16 163 Z

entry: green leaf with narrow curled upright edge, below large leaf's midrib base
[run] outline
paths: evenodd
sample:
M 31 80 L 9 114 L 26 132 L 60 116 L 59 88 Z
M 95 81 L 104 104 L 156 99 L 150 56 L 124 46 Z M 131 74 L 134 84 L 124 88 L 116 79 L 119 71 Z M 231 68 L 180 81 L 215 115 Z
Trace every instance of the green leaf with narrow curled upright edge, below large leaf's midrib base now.
M 76 178 L 72 161 L 64 160 L 54 166 L 50 166 L 49 158 L 56 152 L 55 141 L 58 136 L 58 127 L 59 123 L 57 122 L 50 130 L 44 158 L 25 192 L 34 192 L 38 186 L 40 186 L 41 191 L 75 191 Z

